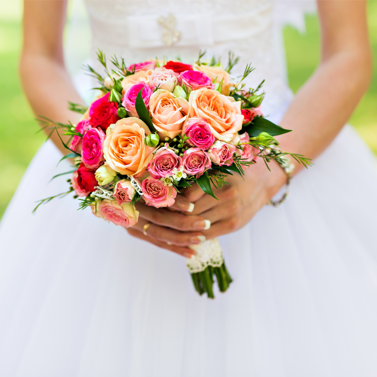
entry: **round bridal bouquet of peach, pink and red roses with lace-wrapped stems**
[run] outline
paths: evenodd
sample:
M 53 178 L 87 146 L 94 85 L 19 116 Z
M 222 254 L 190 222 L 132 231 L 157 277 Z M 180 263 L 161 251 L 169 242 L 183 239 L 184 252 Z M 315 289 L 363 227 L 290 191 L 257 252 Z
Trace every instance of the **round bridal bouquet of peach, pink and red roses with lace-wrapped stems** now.
M 99 218 L 132 227 L 139 215 L 134 204 L 140 199 L 156 208 L 169 207 L 177 192 L 195 182 L 216 198 L 212 187 L 227 184 L 228 174 L 244 175 L 257 158 L 287 164 L 287 153 L 273 136 L 289 130 L 263 117 L 264 93 L 257 93 L 263 81 L 256 89 L 245 89 L 242 81 L 252 72 L 250 65 L 232 82 L 230 72 L 239 60 L 233 54 L 227 69 L 215 58 L 201 61 L 201 52 L 193 65 L 156 59 L 126 66 L 114 56 L 111 72 L 104 54 L 97 55 L 106 76 L 86 69 L 98 79 L 100 95 L 88 109 L 70 103 L 82 120 L 72 125 L 40 118 L 44 127 L 52 125 L 51 132 L 62 128 L 71 136 L 69 146 L 62 141 L 70 151 L 62 159 L 75 158 L 75 169 L 67 172 L 72 173 L 67 192 L 38 205 L 75 191 L 80 208 L 90 207 Z M 196 255 L 187 259 L 187 267 L 195 289 L 213 298 L 216 277 L 225 292 L 232 280 L 218 240 L 192 248 Z

